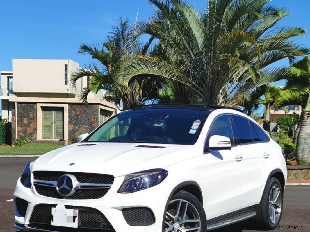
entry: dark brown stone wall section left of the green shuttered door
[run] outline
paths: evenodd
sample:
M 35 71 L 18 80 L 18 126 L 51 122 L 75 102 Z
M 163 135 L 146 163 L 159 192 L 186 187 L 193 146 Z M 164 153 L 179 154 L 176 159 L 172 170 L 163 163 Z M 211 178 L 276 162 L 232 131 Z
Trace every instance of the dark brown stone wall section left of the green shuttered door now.
M 37 139 L 37 105 L 17 103 L 17 139 Z M 12 110 L 12 142 L 15 140 L 15 110 Z

